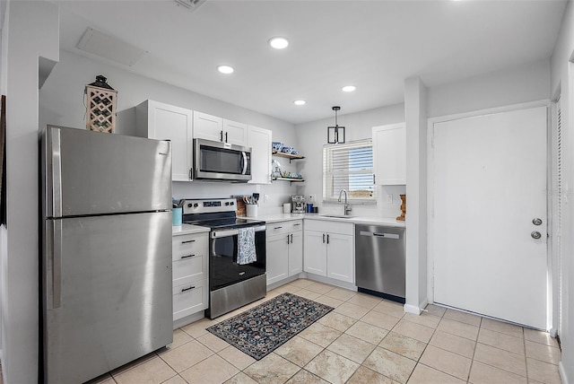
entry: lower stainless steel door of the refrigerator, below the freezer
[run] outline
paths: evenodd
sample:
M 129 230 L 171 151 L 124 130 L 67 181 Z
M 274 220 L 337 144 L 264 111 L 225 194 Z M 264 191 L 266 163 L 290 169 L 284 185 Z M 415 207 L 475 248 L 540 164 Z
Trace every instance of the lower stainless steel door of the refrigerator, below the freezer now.
M 91 380 L 172 342 L 170 212 L 45 224 L 44 382 Z

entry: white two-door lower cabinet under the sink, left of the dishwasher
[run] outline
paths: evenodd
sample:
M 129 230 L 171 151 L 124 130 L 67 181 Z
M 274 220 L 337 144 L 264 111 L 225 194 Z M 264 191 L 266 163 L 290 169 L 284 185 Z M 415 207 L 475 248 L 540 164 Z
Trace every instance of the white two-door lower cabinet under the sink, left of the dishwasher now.
M 352 223 L 305 221 L 304 271 L 354 283 Z

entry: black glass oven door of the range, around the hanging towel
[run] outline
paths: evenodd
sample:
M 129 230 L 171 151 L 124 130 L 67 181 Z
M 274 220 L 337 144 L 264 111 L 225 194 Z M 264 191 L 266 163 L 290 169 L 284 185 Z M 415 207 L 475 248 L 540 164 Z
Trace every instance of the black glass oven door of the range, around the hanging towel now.
M 239 229 L 212 230 L 209 244 L 209 288 L 215 291 L 251 277 L 265 274 L 265 225 L 255 227 L 257 260 L 237 263 Z

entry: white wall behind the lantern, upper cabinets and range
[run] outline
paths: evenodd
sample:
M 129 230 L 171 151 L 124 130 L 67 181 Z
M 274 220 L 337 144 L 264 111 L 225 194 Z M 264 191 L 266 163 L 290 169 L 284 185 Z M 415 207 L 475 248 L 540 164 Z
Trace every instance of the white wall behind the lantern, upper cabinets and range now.
M 86 84 L 95 80 L 97 74 L 106 76 L 108 83 L 117 90 L 117 134 L 135 134 L 135 106 L 143 100 L 151 99 L 270 129 L 273 131 L 274 141 L 285 143 L 296 141 L 295 129 L 290 123 L 167 83 L 131 74 L 115 65 L 67 51 L 60 52 L 59 63 L 40 91 L 40 127 L 54 124 L 84 129 L 86 123 L 83 89 Z M 285 168 L 294 170 L 294 164 Z M 294 185 L 291 186 L 290 183 L 283 181 L 261 186 L 204 181 L 174 182 L 172 189 L 176 198 L 229 197 L 258 192 L 261 194 L 262 214 L 279 212 L 283 203 L 289 201 L 291 194 L 297 192 Z M 264 202 L 264 195 L 269 196 L 267 202 Z

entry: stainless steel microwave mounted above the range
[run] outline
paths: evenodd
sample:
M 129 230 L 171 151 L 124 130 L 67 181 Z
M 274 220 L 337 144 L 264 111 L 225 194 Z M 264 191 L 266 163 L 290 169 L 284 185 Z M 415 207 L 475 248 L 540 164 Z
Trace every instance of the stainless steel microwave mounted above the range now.
M 194 179 L 247 183 L 251 179 L 251 148 L 194 139 Z

